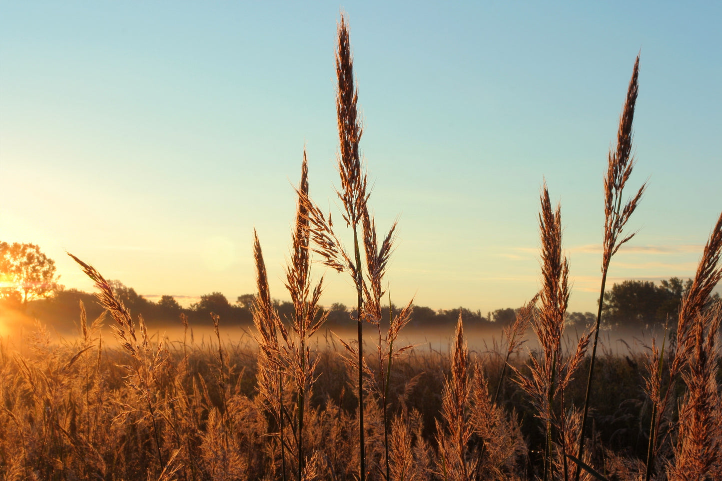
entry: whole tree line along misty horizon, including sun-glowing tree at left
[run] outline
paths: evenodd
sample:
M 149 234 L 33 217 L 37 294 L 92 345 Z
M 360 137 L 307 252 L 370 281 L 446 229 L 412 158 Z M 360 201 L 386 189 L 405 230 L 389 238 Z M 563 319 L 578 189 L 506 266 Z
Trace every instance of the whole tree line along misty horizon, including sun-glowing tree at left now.
M 51 324 L 58 330 L 73 328 L 73 320 L 79 315 L 80 301 L 91 319 L 102 313 L 95 295 L 65 289 L 58 282 L 55 262 L 35 244 L 0 242 L 0 281 L 0 308 L 23 311 L 27 316 Z M 187 316 L 193 325 L 211 326 L 211 313 L 220 316 L 226 326 L 252 324 L 253 294 L 240 295 L 232 303 L 222 293 L 214 292 L 201 295 L 197 303 L 183 308 L 172 295 L 162 295 L 160 300 L 152 302 L 121 281 L 113 280 L 110 284 L 131 313 L 143 316 L 148 326 L 178 323 L 181 314 Z M 676 319 L 682 297 L 690 285 L 692 280 L 684 281 L 679 277 L 662 280 L 659 284 L 645 280 L 615 283 L 604 294 L 603 324 L 609 328 L 635 330 L 664 327 L 668 319 Z M 712 299 L 719 298 L 719 294 L 715 293 Z M 274 304 L 282 319 L 291 318 L 294 313 L 292 303 L 274 300 Z M 391 314 L 399 311 L 398 306 L 385 306 L 382 327 L 388 326 Z M 513 322 L 517 312 L 518 308 L 501 308 L 484 315 L 481 311 L 464 307 L 435 310 L 414 306 L 409 325 L 417 329 L 451 328 L 456 325 L 461 313 L 467 329 L 499 328 Z M 331 329 L 351 328 L 355 322 L 355 312 L 342 303 L 331 304 L 324 313 L 326 325 Z M 567 323 L 578 329 L 586 328 L 595 320 L 591 312 L 571 312 L 567 315 Z

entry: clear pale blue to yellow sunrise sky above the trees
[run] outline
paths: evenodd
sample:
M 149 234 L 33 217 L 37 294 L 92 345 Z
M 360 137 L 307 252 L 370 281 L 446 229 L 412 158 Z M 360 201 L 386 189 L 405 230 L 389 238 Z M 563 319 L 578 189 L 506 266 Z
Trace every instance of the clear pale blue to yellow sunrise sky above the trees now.
M 638 235 L 612 282 L 691 277 L 722 210 L 722 4 L 0 1 L 0 239 L 144 295 L 282 274 L 308 150 L 334 212 L 334 41 L 347 13 L 396 303 L 490 311 L 539 285 L 539 188 L 562 204 L 573 311 L 600 281 L 602 176 L 638 51 Z M 340 220 L 340 215 L 337 216 Z M 316 276 L 324 269 L 318 266 Z M 352 304 L 326 272 L 324 303 Z M 182 300 L 182 299 L 181 299 Z

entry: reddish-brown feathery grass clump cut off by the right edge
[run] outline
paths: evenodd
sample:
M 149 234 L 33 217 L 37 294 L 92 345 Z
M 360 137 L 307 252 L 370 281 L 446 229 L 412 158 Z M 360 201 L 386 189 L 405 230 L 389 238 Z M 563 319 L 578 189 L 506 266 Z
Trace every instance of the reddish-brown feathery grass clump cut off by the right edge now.
M 705 479 L 714 469 L 719 473 L 722 454 L 719 431 L 711 434 L 721 418 L 719 408 L 708 404 L 718 399 L 716 382 L 718 350 L 716 337 L 721 311 L 718 304 L 710 305 L 710 295 L 722 279 L 722 213 L 705 244 L 692 286 L 682 298 L 677 329 L 674 333 L 674 350 L 669 355 L 666 379 L 661 366 L 664 357 L 658 355 L 660 368 L 648 379 L 648 391 L 653 402 L 649 432 L 649 448 L 645 480 L 650 480 L 660 454 L 660 430 L 671 425 L 673 417 L 669 407 L 673 401 L 677 381 L 681 376 L 687 395 L 679 409 L 677 446 L 671 467 L 671 479 Z M 666 423 L 665 423 L 666 421 Z M 671 429 L 670 429 L 671 431 Z M 667 436 L 671 439 L 671 433 Z M 692 475 L 696 472 L 697 475 Z M 685 474 L 686 473 L 686 474 Z

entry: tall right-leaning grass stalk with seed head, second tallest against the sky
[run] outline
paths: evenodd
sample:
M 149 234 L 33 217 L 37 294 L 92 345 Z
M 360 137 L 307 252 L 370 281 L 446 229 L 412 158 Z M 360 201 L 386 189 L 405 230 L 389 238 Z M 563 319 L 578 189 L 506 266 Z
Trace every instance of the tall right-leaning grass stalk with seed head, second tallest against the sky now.
M 609 272 L 609 263 L 612 256 L 619 250 L 622 244 L 634 237 L 635 233 L 619 240 L 622 230 L 629 220 L 632 212 L 637 207 L 646 183 L 643 183 L 637 194 L 630 199 L 622 208 L 622 191 L 625 188 L 627 179 L 632 173 L 635 159 L 632 154 L 632 122 L 634 121 L 634 109 L 639 92 L 639 55 L 637 56 L 632 69 L 632 78 L 627 87 L 627 98 L 625 100 L 622 115 L 619 118 L 619 130 L 617 131 L 617 149 L 609 152 L 609 162 L 606 177 L 604 178 L 604 251 L 601 263 L 601 287 L 599 289 L 599 308 L 596 314 L 594 326 L 594 341 L 592 343 L 591 360 L 587 376 L 586 394 L 584 396 L 584 407 L 582 424 L 579 435 L 579 447 L 577 459 L 583 461 L 584 440 L 586 436 L 586 421 L 591 400 L 591 386 L 594 376 L 594 365 L 596 363 L 596 347 L 599 340 L 599 325 L 601 324 L 601 311 L 604 306 L 604 289 L 606 287 L 606 275 Z M 574 479 L 579 481 L 581 464 L 577 464 Z

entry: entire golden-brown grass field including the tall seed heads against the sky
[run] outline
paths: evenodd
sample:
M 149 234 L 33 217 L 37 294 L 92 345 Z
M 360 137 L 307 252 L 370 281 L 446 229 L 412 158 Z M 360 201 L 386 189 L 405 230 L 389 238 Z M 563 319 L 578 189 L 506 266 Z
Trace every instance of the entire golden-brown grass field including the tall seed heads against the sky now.
M 600 297 L 627 221 L 639 57 L 604 178 Z M 0 344 L 0 476 L 5 480 L 721 480 L 717 346 L 722 215 L 669 332 L 612 354 L 596 325 L 570 342 L 561 208 L 541 188 L 540 292 L 490 350 L 469 350 L 459 316 L 448 350 L 414 350 L 401 333 L 412 301 L 380 326 L 393 252 L 378 235 L 358 144 L 349 33 L 336 51 L 341 220 L 308 194 L 305 156 L 285 276 L 293 313 L 272 302 L 261 242 L 253 344 L 153 338 L 100 272 L 72 256 L 97 289 L 114 346 L 80 306 L 77 341 L 34 332 Z M 340 229 L 345 229 L 340 233 Z M 339 238 L 352 238 L 348 249 Z M 354 342 L 316 342 L 326 314 L 311 256 L 349 274 Z M 390 303 L 390 302 L 389 302 Z M 112 319 L 111 319 L 112 318 Z M 370 336 L 371 334 L 371 336 Z M 451 336 L 451 333 L 449 333 Z M 375 342 L 367 342 L 373 338 Z M 523 349 L 527 337 L 534 350 Z

